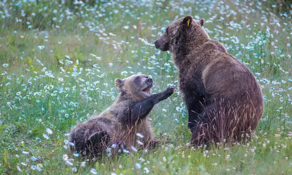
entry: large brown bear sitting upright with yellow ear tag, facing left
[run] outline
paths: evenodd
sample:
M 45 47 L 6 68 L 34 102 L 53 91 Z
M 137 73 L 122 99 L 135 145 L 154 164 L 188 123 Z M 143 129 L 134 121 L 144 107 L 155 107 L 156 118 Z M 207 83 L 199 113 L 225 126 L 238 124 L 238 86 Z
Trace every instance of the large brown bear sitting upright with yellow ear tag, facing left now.
M 245 65 L 209 38 L 203 24 L 204 19 L 180 18 L 166 28 L 155 47 L 173 53 L 191 143 L 245 141 L 263 114 L 260 86 Z

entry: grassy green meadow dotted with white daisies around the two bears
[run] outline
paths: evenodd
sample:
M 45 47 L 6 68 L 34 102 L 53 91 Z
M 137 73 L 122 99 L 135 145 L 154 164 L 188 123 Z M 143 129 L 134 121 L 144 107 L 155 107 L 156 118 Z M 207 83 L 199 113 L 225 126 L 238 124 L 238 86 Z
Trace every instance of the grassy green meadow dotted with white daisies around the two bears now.
M 284 0 L 1 0 L 0 174 L 292 174 L 291 9 Z M 173 144 L 71 153 L 70 129 L 113 103 L 115 78 L 146 74 L 152 93 L 178 85 L 171 54 L 153 41 L 186 15 L 204 18 L 210 37 L 256 76 L 265 104 L 251 141 L 190 148 L 176 90 L 149 115 L 155 136 Z

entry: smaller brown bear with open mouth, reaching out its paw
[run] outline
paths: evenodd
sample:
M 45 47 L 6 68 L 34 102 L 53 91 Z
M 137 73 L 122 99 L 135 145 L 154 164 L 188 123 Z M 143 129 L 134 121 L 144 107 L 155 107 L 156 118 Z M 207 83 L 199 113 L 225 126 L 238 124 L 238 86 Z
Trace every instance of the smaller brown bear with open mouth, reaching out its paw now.
M 176 87 L 151 95 L 153 81 L 143 74 L 116 78 L 115 85 L 120 90 L 114 103 L 71 130 L 72 151 L 87 155 L 108 152 L 109 155 L 113 150 L 123 151 L 131 146 L 154 147 L 159 142 L 153 135 L 147 115 L 155 104 L 171 96 Z

